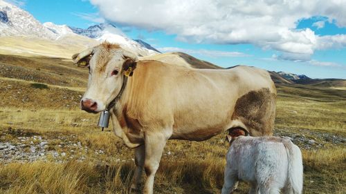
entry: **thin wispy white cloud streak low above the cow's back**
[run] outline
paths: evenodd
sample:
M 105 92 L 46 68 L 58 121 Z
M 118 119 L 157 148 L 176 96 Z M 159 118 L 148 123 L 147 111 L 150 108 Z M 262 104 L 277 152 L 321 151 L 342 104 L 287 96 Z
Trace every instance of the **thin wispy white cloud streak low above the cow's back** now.
M 185 48 L 176 48 L 176 47 L 163 47 L 157 48 L 162 52 L 186 52 L 190 55 L 206 55 L 208 57 L 247 57 L 243 52 L 228 52 L 221 50 L 205 50 L 205 49 L 185 49 Z

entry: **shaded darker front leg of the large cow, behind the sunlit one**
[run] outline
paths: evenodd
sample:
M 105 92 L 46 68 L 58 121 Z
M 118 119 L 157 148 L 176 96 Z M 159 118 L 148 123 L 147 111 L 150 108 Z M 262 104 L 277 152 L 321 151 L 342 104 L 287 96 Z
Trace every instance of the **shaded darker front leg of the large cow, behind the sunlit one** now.
M 136 170 L 134 171 L 134 179 L 132 180 L 131 190 L 138 191 L 145 161 L 145 146 L 142 144 L 134 150 L 134 162 Z

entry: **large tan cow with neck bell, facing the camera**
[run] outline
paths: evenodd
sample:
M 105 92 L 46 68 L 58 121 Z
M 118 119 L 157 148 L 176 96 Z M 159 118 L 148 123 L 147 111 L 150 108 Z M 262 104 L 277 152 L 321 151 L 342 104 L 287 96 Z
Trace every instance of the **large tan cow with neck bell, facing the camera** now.
M 143 193 L 153 193 L 154 175 L 169 139 L 203 141 L 230 128 L 254 136 L 273 133 L 276 89 L 265 70 L 202 70 L 138 60 L 111 43 L 73 55 L 73 61 L 89 68 L 82 110 L 109 110 L 115 135 L 135 148 L 134 190 L 144 168 Z

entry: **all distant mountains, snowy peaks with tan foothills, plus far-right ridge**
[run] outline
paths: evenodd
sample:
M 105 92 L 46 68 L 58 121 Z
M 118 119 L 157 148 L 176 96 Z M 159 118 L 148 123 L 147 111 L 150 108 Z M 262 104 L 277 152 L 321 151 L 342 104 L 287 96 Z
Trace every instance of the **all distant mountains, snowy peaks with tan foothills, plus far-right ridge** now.
M 183 52 L 156 55 L 160 51 L 141 39 L 127 37 L 113 23 L 99 23 L 86 29 L 52 22 L 40 23 L 29 12 L 0 0 L 0 54 L 71 59 L 71 55 L 76 52 L 96 46 L 102 41 L 118 43 L 143 59 L 157 59 L 171 64 L 189 64 L 193 68 L 221 68 Z M 275 84 L 346 87 L 344 79 L 311 79 L 306 75 L 282 71 L 270 73 Z

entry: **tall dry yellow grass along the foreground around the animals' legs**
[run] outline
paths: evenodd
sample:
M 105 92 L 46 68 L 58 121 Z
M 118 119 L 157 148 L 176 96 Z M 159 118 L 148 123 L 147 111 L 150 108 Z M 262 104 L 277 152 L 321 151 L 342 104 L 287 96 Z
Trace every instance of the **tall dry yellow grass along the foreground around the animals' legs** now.
M 343 193 L 345 148 L 304 151 L 304 193 Z M 224 161 L 215 158 L 163 159 L 156 175 L 156 193 L 219 193 Z M 1 193 L 128 193 L 134 164 L 118 162 L 34 162 L 0 168 Z M 320 186 L 318 186 L 320 184 Z M 240 184 L 239 193 L 246 193 Z

